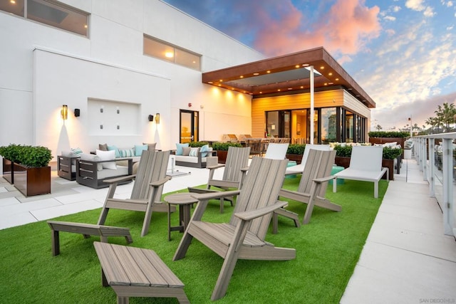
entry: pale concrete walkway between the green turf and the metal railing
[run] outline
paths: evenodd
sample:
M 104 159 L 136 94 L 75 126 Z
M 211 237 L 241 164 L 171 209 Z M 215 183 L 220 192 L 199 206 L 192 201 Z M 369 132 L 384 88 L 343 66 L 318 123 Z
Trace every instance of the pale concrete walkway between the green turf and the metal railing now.
M 456 242 L 414 159 L 390 182 L 341 303 L 456 303 Z

